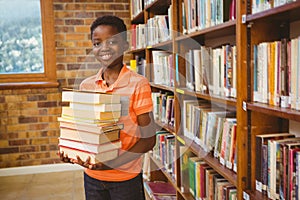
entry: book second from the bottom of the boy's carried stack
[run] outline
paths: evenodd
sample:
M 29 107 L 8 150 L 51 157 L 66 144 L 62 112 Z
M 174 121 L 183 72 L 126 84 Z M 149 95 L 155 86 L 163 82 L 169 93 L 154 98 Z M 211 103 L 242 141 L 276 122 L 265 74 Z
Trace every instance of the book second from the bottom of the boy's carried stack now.
M 97 144 L 90 144 L 90 143 L 84 143 L 75 140 L 67 140 L 64 138 L 59 138 L 59 145 L 82 150 L 82 151 L 88 151 L 92 153 L 100 153 L 100 152 L 121 148 L 121 141 L 118 140 L 114 142 L 107 142 L 101 145 L 97 145 Z

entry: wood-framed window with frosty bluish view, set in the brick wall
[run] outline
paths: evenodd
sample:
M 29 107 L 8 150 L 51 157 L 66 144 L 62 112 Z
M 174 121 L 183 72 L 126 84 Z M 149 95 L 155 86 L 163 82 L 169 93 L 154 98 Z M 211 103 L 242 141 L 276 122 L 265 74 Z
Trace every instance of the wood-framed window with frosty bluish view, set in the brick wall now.
M 0 0 L 0 87 L 57 86 L 52 0 Z

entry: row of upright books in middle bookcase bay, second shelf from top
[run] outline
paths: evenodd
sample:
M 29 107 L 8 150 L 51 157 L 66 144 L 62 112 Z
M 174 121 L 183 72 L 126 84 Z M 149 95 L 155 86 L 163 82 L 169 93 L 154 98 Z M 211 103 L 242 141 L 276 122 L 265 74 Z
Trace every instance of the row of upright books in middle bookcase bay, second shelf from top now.
M 236 46 L 201 46 L 200 49 L 190 49 L 185 54 L 185 62 L 188 89 L 236 97 Z

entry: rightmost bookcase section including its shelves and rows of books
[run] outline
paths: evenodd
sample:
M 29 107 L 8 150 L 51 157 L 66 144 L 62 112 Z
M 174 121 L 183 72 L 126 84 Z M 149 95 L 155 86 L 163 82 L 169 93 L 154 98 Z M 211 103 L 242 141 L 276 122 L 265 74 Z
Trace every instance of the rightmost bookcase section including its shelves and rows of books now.
M 247 72 L 241 81 L 247 85 L 247 122 L 242 123 L 248 127 L 243 131 L 248 161 L 241 169 L 247 177 L 243 196 L 298 199 L 300 1 L 249 1 L 240 9 L 239 37 L 247 46 L 240 55 Z

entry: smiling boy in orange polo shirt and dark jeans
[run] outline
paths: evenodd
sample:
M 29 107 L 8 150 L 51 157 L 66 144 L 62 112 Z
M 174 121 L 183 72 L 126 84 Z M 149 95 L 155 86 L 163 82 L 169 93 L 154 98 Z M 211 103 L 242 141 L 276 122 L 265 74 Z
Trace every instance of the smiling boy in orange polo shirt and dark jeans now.
M 122 150 L 118 158 L 105 163 L 91 164 L 69 159 L 60 152 L 61 160 L 86 168 L 84 187 L 86 199 L 139 200 L 144 199 L 141 174 L 142 155 L 155 145 L 155 126 L 152 114 L 151 88 L 147 79 L 123 64 L 128 48 L 126 26 L 118 17 L 103 16 L 91 25 L 93 54 L 99 61 L 99 72 L 80 84 L 81 90 L 120 94 L 127 102 L 120 122 Z M 125 105 L 125 104 L 124 104 Z M 126 111 L 127 110 L 127 111 Z

